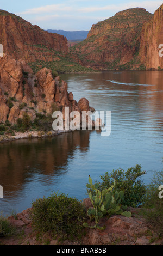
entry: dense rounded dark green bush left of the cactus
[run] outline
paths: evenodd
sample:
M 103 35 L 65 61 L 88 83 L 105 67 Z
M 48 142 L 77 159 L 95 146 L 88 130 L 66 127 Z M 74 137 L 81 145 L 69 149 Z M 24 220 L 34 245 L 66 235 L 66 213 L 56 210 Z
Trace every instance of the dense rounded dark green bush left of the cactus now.
M 83 229 L 85 210 L 76 198 L 65 194 L 51 194 L 32 204 L 32 226 L 40 233 L 49 231 L 60 237 L 77 237 Z

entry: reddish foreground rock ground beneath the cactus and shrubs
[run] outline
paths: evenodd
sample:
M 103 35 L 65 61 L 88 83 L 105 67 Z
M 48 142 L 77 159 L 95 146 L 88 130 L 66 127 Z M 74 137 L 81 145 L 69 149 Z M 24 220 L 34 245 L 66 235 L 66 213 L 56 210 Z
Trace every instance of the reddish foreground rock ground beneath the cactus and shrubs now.
M 91 206 L 89 199 L 84 199 L 85 207 Z M 105 225 L 106 229 L 86 228 L 86 234 L 80 241 L 62 241 L 54 239 L 49 233 L 45 233 L 37 239 L 37 233 L 32 229 L 30 209 L 20 214 L 9 217 L 10 222 L 16 227 L 17 235 L 9 238 L 0 238 L 1 245 L 163 245 L 163 239 L 158 239 L 150 225 L 136 213 L 139 209 L 131 208 L 133 217 L 114 215 L 110 218 L 102 218 L 99 224 Z M 87 222 L 90 222 L 89 220 Z M 92 223 L 93 225 L 93 223 Z M 23 234 L 18 238 L 18 234 Z

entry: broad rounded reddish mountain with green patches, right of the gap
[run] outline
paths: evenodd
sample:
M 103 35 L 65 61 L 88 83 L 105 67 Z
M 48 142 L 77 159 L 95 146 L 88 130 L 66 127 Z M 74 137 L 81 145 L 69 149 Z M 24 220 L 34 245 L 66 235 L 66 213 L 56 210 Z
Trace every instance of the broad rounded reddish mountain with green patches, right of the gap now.
M 139 68 L 142 25 L 152 16 L 143 8 L 120 11 L 93 25 L 87 39 L 72 47 L 71 54 L 94 69 Z

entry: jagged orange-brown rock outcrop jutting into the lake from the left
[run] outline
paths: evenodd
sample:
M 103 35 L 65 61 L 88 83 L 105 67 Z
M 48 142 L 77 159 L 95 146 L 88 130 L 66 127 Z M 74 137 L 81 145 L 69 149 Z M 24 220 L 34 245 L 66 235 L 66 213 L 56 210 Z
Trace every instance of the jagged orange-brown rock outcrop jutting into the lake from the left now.
M 16 123 L 24 113 L 34 121 L 38 114 L 52 116 L 54 111 L 89 111 L 89 101 L 77 102 L 68 93 L 67 83 L 52 70 L 43 68 L 36 74 L 24 62 L 4 54 L 0 57 L 0 123 Z M 41 129 L 41 128 L 40 128 Z

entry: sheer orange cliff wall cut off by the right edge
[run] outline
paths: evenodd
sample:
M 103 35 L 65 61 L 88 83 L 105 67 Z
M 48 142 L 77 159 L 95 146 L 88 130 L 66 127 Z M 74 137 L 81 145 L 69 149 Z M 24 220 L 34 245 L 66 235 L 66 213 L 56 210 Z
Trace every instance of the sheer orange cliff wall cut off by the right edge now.
M 159 56 L 159 45 L 163 44 L 163 4 L 153 18 L 142 27 L 140 53 L 141 63 L 146 69 L 163 69 L 163 57 Z

